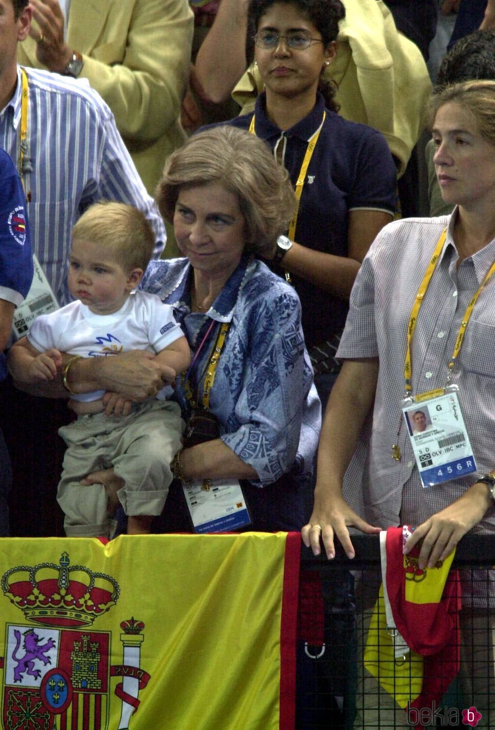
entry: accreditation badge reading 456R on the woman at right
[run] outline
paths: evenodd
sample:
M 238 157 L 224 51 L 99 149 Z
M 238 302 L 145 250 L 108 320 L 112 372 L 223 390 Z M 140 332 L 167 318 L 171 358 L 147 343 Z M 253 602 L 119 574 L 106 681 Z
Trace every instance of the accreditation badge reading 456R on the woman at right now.
M 456 385 L 449 385 L 407 398 L 402 403 L 424 487 L 476 471 L 457 391 Z

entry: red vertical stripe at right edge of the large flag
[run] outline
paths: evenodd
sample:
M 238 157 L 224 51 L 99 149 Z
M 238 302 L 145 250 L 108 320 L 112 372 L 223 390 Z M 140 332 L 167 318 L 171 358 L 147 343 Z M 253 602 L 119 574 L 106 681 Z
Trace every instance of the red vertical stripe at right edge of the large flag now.
M 285 542 L 284 588 L 280 623 L 280 730 L 294 730 L 296 696 L 297 598 L 299 596 L 300 532 Z

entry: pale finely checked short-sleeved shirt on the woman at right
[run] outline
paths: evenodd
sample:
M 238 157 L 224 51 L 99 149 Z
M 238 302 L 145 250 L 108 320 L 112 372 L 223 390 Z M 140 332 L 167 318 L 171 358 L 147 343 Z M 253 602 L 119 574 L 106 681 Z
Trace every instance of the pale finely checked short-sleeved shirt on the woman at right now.
M 477 475 L 495 468 L 495 277 L 472 312 L 452 378 L 459 385 L 459 403 L 478 472 L 424 488 L 401 418 L 410 311 L 440 234 L 448 226 L 411 345 L 413 395 L 445 385 L 461 319 L 495 260 L 494 239 L 456 266 L 458 253 L 452 237 L 456 215 L 455 210 L 450 219 L 399 220 L 383 228 L 351 293 L 338 356 L 378 358 L 380 367 L 371 438 L 361 439 L 358 445 L 344 494 L 371 524 L 383 529 L 399 523 L 418 526 L 458 499 Z M 396 443 L 401 461 L 392 458 L 391 445 Z M 473 531 L 495 531 L 495 508 Z

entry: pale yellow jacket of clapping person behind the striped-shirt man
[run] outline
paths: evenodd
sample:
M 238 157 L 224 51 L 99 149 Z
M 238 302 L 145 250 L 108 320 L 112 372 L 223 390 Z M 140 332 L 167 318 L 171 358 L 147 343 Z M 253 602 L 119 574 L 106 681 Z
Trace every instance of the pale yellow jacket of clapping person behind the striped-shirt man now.
M 80 77 L 104 98 L 149 193 L 166 156 L 182 145 L 179 124 L 191 60 L 187 0 L 72 0 L 67 44 L 82 53 Z M 21 66 L 43 68 L 32 38 Z

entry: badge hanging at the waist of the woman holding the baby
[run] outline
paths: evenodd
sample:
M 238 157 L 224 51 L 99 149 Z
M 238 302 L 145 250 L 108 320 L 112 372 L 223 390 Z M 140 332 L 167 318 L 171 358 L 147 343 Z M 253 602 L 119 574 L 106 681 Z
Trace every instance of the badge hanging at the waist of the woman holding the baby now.
M 231 532 L 251 524 L 237 479 L 203 479 L 182 488 L 196 533 Z

